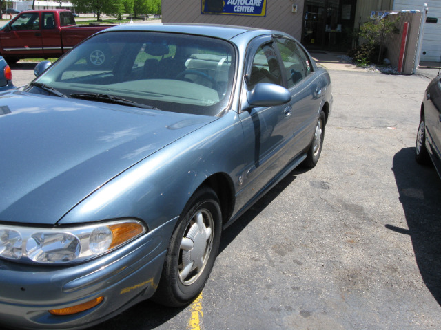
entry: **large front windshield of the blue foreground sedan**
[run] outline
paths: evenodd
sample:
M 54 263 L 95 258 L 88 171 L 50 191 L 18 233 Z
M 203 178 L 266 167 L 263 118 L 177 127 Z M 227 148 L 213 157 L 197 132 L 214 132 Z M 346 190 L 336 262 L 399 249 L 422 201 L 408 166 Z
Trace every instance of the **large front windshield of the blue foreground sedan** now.
M 72 98 L 104 94 L 163 111 L 216 115 L 229 102 L 234 63 L 234 47 L 220 39 L 104 32 L 75 47 L 35 82 Z M 37 93 L 35 88 L 29 91 Z

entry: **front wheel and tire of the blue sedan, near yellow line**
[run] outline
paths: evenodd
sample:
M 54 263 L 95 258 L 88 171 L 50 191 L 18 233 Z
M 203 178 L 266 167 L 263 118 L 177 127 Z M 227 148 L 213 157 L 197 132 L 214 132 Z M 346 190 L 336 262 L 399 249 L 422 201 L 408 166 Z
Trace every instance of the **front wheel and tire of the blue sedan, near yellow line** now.
M 172 234 L 152 300 L 170 307 L 192 302 L 212 271 L 221 231 L 222 214 L 216 193 L 210 188 L 196 190 Z

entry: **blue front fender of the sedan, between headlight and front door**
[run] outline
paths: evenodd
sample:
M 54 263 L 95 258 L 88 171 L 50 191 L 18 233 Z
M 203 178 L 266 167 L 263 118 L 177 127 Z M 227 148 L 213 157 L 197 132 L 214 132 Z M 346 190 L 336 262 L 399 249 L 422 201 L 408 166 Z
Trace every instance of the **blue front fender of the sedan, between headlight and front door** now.
M 229 111 L 97 188 L 58 224 L 130 217 L 143 220 L 149 230 L 154 230 L 178 217 L 209 177 L 222 173 L 231 182 L 237 182 L 234 177 L 240 172 L 238 168 L 244 166 L 241 139 L 238 115 Z

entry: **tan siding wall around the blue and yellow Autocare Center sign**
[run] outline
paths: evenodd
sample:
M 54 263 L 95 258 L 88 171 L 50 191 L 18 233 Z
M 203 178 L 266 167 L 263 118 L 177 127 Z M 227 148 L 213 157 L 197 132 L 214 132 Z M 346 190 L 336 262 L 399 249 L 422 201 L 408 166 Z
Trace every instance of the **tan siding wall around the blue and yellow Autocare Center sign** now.
M 163 23 L 212 23 L 280 30 L 300 40 L 305 1 L 269 0 L 266 17 L 201 14 L 201 0 L 162 0 Z M 292 5 L 297 12 L 292 12 Z

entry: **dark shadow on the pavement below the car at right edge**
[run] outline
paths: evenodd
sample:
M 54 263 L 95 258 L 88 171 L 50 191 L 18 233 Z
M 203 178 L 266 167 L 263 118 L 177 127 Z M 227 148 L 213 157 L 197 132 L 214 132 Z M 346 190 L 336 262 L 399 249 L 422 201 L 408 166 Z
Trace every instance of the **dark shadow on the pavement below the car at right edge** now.
M 441 305 L 441 180 L 433 166 L 415 160 L 415 148 L 403 148 L 393 157 L 400 202 L 407 228 L 386 228 L 409 235 L 422 280 Z

